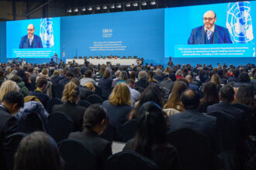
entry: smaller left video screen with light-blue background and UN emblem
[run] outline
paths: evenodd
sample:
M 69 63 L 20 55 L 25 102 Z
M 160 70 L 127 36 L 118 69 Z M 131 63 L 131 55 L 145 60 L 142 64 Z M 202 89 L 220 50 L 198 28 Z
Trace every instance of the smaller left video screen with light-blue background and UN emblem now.
M 60 18 L 29 19 L 6 23 L 7 59 L 21 58 L 29 62 L 49 62 L 60 53 Z M 28 26 L 34 26 L 33 48 L 28 47 Z M 32 28 L 33 28 L 32 26 Z M 23 40 L 25 39 L 26 40 Z

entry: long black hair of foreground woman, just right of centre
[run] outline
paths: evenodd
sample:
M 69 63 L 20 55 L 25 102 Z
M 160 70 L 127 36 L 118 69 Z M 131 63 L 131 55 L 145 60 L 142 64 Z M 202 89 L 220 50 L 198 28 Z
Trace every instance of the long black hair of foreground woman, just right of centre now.
M 162 145 L 167 142 L 167 123 L 164 112 L 158 104 L 152 101 L 143 104 L 137 119 L 134 150 L 150 157 L 153 145 Z

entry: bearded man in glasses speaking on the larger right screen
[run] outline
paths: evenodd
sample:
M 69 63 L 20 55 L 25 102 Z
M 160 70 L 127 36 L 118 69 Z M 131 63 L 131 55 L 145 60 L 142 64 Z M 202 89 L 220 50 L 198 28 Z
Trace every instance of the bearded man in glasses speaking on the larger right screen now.
M 188 44 L 223 44 L 233 43 L 228 30 L 222 26 L 216 26 L 216 13 L 207 11 L 202 18 L 203 26 L 192 29 Z

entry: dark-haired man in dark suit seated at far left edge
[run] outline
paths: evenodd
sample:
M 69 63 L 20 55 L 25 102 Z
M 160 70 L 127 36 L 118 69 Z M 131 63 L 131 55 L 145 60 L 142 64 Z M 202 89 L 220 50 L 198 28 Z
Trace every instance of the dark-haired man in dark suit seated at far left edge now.
M 5 93 L 0 104 L 0 165 L 5 169 L 5 147 L 9 148 L 9 141 L 5 138 L 10 134 L 17 132 L 17 121 L 14 117 L 24 105 L 22 93 L 18 91 L 9 91 Z M 5 144 L 5 145 L 4 145 Z

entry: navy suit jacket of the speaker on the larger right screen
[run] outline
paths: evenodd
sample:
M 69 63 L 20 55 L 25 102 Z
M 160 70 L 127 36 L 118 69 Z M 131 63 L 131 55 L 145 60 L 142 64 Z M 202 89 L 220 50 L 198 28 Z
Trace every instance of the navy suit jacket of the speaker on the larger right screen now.
M 213 32 L 213 44 L 233 43 L 228 30 L 222 26 L 216 26 Z M 192 29 L 188 44 L 206 44 L 206 32 L 204 26 Z

